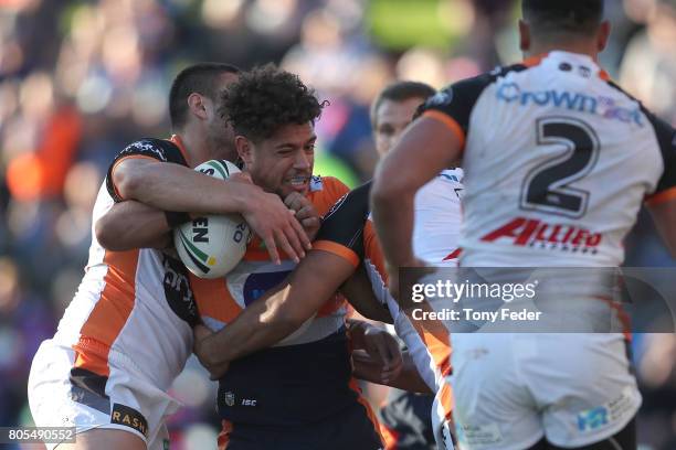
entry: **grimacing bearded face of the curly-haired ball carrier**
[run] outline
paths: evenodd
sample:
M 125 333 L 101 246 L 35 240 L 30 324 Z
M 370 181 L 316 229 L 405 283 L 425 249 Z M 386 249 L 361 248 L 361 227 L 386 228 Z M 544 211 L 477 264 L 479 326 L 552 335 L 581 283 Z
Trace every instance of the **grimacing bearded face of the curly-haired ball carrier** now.
M 240 157 L 253 182 L 265 191 L 282 199 L 292 192 L 305 195 L 309 192 L 316 140 L 311 124 L 287 125 L 257 143 L 240 142 Z

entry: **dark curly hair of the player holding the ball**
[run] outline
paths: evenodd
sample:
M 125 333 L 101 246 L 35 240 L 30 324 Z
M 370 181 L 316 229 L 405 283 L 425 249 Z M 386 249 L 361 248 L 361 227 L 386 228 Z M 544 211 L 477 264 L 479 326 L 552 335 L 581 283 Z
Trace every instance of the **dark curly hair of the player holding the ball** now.
M 314 124 L 328 105 L 319 103 L 297 75 L 274 64 L 242 73 L 222 95 L 221 117 L 236 135 L 254 141 L 272 137 L 285 125 Z

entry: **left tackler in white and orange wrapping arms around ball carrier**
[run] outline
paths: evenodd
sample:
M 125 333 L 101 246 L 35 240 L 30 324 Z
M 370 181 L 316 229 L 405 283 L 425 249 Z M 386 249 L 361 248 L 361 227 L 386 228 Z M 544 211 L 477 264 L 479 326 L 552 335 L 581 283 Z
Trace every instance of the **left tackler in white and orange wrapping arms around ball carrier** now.
M 166 390 L 183 368 L 192 333 L 166 297 L 183 299 L 188 280 L 175 270 L 178 260 L 131 248 L 163 247 L 170 227 L 189 218 L 186 212 L 244 214 L 267 236 L 273 257 L 275 238 L 296 256 L 308 244 L 278 196 L 245 180 L 223 182 L 190 169 L 209 159 L 235 157 L 232 132 L 223 127 L 218 107 L 219 92 L 239 72 L 215 63 L 182 71 L 169 99 L 176 135 L 134 142 L 110 165 L 94 206 L 97 233 L 85 276 L 56 334 L 34 356 L 29 378 L 35 424 L 76 427 L 77 442 L 59 448 L 168 444 L 165 417 L 177 404 Z M 115 202 L 122 202 L 118 216 L 128 228 L 117 227 L 118 235 L 97 223 L 105 222 Z M 105 249 L 99 239 L 112 248 Z

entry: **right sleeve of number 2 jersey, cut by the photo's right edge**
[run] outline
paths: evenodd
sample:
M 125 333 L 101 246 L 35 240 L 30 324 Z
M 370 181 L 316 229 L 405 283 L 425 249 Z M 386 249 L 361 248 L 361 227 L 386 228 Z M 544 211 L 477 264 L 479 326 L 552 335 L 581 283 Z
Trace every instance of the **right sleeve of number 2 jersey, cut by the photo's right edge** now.
M 664 172 L 657 181 L 657 188 L 647 199 L 648 205 L 676 199 L 676 130 L 651 113 L 646 113 L 659 144 L 664 162 Z

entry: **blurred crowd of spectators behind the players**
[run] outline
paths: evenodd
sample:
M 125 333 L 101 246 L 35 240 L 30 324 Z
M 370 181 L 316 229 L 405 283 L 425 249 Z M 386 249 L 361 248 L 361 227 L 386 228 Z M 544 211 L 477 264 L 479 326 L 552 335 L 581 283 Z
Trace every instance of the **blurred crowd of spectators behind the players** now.
M 676 0 L 608 0 L 613 78 L 676 125 Z M 186 65 L 270 61 L 330 106 L 316 173 L 355 185 L 376 152 L 369 105 L 393 79 L 435 87 L 519 61 L 516 0 L 0 0 L 0 425 L 29 425 L 25 384 L 82 277 L 91 208 L 112 158 L 168 137 L 167 96 Z M 673 266 L 641 219 L 627 266 Z M 640 440 L 676 448 L 676 339 L 637 335 Z M 172 448 L 208 448 L 214 386 L 194 361 Z

